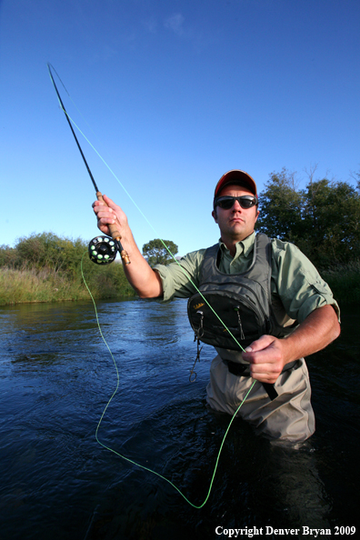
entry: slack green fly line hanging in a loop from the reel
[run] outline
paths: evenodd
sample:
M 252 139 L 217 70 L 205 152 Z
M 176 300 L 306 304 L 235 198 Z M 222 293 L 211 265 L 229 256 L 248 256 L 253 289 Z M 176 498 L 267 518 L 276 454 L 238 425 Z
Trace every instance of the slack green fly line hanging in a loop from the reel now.
M 131 463 L 133 465 L 136 465 L 137 467 L 140 467 L 141 469 L 144 469 L 145 471 L 149 472 L 149 473 L 152 473 L 153 475 L 156 475 L 156 476 L 159 476 L 159 478 L 161 478 L 162 480 L 165 480 L 165 482 L 167 482 L 168 484 L 170 484 L 172 487 L 174 487 L 174 489 L 177 491 L 177 493 L 179 493 L 182 497 L 184 497 L 186 503 L 188 503 L 189 505 L 193 506 L 194 508 L 197 508 L 197 509 L 200 509 L 202 508 L 203 506 L 205 506 L 209 496 L 210 496 L 210 493 L 211 493 L 211 490 L 212 490 L 212 487 L 213 487 L 213 483 L 214 483 L 214 478 L 215 478 L 215 474 L 216 474 L 216 470 L 217 470 L 217 465 L 219 463 L 219 460 L 220 460 L 220 455 L 221 455 L 221 452 L 223 450 L 223 446 L 225 444 L 225 438 L 230 430 L 230 427 L 231 425 L 233 424 L 233 421 L 235 419 L 235 415 L 237 415 L 240 407 L 244 404 L 245 402 L 245 399 L 246 397 L 250 394 L 250 392 L 252 391 L 254 385 L 255 385 L 255 382 L 250 386 L 249 390 L 247 391 L 247 394 L 245 395 L 243 401 L 240 403 L 240 405 L 237 407 L 237 409 L 235 410 L 235 413 L 233 415 L 233 417 L 231 418 L 230 420 L 230 423 L 229 425 L 227 426 L 227 429 L 225 431 L 225 435 L 223 437 L 223 440 L 221 442 L 221 445 L 220 445 L 220 448 L 219 448 L 219 451 L 217 453 L 217 457 L 216 457 L 216 461 L 215 461 L 215 467 L 214 467 L 214 473 L 212 475 L 212 478 L 211 478 L 211 481 L 210 481 L 210 485 L 209 485 L 209 489 L 208 489 L 208 492 L 207 492 L 207 495 L 205 497 L 205 501 L 204 503 L 202 503 L 202 505 L 194 505 L 191 501 L 189 501 L 189 499 L 180 491 L 180 489 L 178 487 L 176 487 L 175 484 L 173 484 L 173 482 L 171 482 L 171 480 L 169 480 L 168 478 L 166 478 L 165 476 L 163 475 L 160 475 L 160 473 L 157 473 L 156 471 L 154 471 L 153 469 L 150 469 L 149 467 L 145 467 L 145 465 L 140 465 L 138 463 L 136 463 L 134 460 L 130 459 L 129 457 L 126 457 L 125 455 L 122 455 L 120 454 L 119 452 L 117 452 L 114 448 L 111 448 L 110 446 L 107 446 L 105 445 L 104 443 L 102 443 L 98 437 L 98 432 L 99 432 L 99 429 L 100 429 L 100 425 L 103 421 L 103 418 L 105 416 L 105 413 L 106 413 L 106 410 L 108 408 L 108 406 L 110 405 L 110 403 L 113 401 L 114 397 L 115 397 L 115 394 L 117 393 L 118 389 L 119 389 L 119 385 L 120 385 L 120 377 L 119 377 L 119 371 L 117 369 L 117 365 L 116 365 L 116 362 L 115 362 L 115 358 L 114 358 L 114 355 L 113 353 L 111 352 L 111 349 L 109 347 L 109 345 L 107 344 L 106 340 L 105 340 L 105 336 L 103 334 L 103 331 L 101 329 L 101 325 L 100 325 L 100 321 L 99 321 L 99 316 L 98 316 L 98 313 L 97 313 L 97 308 L 96 308 L 96 304 L 95 304 L 95 299 L 94 299 L 94 296 L 91 294 L 91 291 L 85 281 L 85 275 L 84 275 L 84 270 L 83 270 L 83 259 L 84 259 L 84 256 L 87 255 L 87 251 L 84 253 L 84 255 L 82 256 L 81 258 L 81 275 L 83 277 L 83 281 L 85 283 L 85 287 L 90 295 L 90 298 L 92 299 L 93 301 L 93 304 L 94 304 L 94 309 L 95 309 L 95 316 L 96 316 L 96 324 L 97 324 L 97 327 L 99 329 L 99 332 L 100 332 L 100 335 L 105 343 L 105 346 L 107 348 L 107 350 L 109 351 L 109 354 L 113 360 L 113 363 L 114 363 L 114 366 L 115 366 L 115 372 L 116 372 L 116 386 L 115 386 L 115 391 L 113 392 L 113 394 L 111 395 L 110 399 L 108 400 L 107 404 L 105 405 L 105 409 L 102 413 L 102 415 L 100 416 L 100 420 L 96 426 L 96 430 L 95 430 L 95 438 L 96 438 L 96 441 L 98 442 L 99 445 L 103 446 L 103 448 L 105 448 L 106 450 L 109 450 L 109 452 L 112 452 L 113 454 L 115 455 L 118 455 L 119 457 L 121 457 L 122 459 L 125 459 L 125 461 L 127 461 L 128 463 Z M 224 323 L 223 323 L 224 324 Z

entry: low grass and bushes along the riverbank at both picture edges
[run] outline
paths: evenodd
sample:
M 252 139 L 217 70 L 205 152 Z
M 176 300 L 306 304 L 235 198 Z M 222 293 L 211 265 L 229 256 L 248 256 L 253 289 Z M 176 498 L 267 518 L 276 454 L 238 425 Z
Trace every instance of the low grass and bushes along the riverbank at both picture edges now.
M 43 233 L 21 238 L 14 248 L 0 247 L 0 305 L 90 300 L 81 275 L 82 258 L 95 300 L 135 296 L 121 263 L 95 265 L 83 240 Z M 320 274 L 340 305 L 360 301 L 360 259 L 320 269 Z

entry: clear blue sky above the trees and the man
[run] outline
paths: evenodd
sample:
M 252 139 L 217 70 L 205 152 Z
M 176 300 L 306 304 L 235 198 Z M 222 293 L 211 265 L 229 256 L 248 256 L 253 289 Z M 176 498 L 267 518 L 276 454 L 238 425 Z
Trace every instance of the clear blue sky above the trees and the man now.
M 94 188 L 47 62 L 151 224 L 78 135 L 137 244 L 162 237 L 185 255 L 217 241 L 212 199 L 229 169 L 260 192 L 283 167 L 305 186 L 315 164 L 316 178 L 355 185 L 359 55 L 358 0 L 0 0 L 0 245 L 97 235 Z

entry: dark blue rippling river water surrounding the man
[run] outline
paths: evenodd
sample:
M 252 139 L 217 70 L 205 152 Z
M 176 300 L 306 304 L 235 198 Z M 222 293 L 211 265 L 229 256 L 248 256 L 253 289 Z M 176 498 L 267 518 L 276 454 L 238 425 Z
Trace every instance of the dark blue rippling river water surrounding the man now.
M 120 379 L 100 442 L 201 505 L 230 420 L 205 403 L 212 347 L 190 384 L 184 301 L 104 302 L 98 316 Z M 116 372 L 91 303 L 15 305 L 0 321 L 1 540 L 203 540 L 231 528 L 309 538 L 303 527 L 333 536 L 359 525 L 357 306 L 343 309 L 335 344 L 308 358 L 315 435 L 283 448 L 235 419 L 201 509 L 96 442 Z M 299 531 L 275 534 L 290 527 Z

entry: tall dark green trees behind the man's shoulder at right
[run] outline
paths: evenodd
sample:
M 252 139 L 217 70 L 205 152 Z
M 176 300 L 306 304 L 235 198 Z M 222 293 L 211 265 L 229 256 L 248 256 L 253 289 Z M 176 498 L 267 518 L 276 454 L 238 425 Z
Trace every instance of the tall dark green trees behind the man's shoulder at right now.
M 297 190 L 286 169 L 270 175 L 260 194 L 256 228 L 271 237 L 293 242 L 321 269 L 347 264 L 360 256 L 360 191 L 346 182 L 314 180 L 308 174 Z

